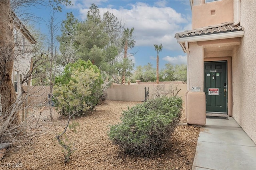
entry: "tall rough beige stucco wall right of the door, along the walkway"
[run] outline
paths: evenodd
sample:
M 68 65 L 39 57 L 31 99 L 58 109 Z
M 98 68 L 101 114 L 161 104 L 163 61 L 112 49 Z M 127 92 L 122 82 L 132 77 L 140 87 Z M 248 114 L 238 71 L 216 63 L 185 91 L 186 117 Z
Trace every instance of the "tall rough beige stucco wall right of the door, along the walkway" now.
M 256 1 L 241 0 L 241 45 L 232 57 L 233 117 L 256 143 Z

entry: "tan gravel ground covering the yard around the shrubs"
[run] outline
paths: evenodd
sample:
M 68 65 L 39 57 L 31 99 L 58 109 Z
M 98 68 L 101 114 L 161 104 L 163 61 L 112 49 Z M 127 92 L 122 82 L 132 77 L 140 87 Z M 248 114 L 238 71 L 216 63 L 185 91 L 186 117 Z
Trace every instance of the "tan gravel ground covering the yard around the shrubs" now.
M 108 138 L 108 125 L 120 122 L 122 110 L 140 102 L 105 101 L 83 117 L 74 121 L 80 125 L 77 132 L 67 131 L 70 143 L 77 149 L 70 162 L 64 163 L 62 148 L 56 135 L 65 127 L 66 119 L 49 120 L 49 110 L 45 110 L 39 121 L 40 127 L 29 128 L 28 134 L 8 149 L 0 161 L 0 169 L 24 170 L 190 170 L 194 160 L 199 128 L 178 126 L 172 135 L 172 145 L 163 153 L 152 158 L 123 154 L 118 146 Z M 32 122 L 30 122 L 32 123 Z M 10 163 L 10 164 L 8 164 Z M 6 166 L 9 166 L 6 168 Z M 10 167 L 13 166 L 13 167 Z M 16 167 L 22 166 L 22 167 Z

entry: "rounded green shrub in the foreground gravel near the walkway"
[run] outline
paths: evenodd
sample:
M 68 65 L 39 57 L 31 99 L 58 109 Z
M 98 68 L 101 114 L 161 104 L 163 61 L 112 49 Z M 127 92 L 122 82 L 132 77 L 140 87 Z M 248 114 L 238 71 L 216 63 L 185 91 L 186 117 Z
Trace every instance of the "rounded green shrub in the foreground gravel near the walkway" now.
M 123 111 L 122 122 L 111 126 L 108 136 L 128 154 L 153 156 L 170 143 L 181 109 L 178 97 L 148 100 Z

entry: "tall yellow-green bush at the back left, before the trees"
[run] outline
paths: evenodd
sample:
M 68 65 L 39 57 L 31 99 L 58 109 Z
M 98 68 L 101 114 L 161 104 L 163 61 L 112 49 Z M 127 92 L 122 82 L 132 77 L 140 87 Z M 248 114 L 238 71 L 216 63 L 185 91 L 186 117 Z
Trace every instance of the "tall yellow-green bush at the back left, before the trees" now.
M 90 61 L 78 60 L 56 78 L 54 103 L 62 115 L 81 115 L 98 104 L 103 94 L 100 70 Z

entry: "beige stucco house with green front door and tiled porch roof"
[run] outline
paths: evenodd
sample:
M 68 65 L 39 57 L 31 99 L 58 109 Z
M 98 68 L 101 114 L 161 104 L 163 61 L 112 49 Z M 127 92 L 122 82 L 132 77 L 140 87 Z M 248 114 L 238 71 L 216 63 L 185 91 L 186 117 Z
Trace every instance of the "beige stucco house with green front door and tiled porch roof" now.
M 187 54 L 186 114 L 234 117 L 256 143 L 256 1 L 190 0 L 192 29 L 175 37 Z

